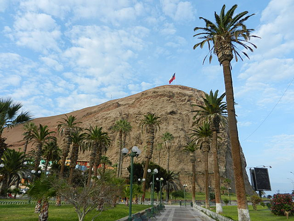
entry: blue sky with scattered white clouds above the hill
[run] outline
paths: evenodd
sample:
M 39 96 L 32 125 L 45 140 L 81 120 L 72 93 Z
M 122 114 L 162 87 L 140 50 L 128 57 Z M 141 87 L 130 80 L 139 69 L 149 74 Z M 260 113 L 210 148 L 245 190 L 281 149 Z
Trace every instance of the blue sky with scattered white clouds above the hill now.
M 232 62 L 247 165 L 272 166 L 267 193 L 289 193 L 293 0 L 0 0 L 0 96 L 50 116 L 168 84 L 174 72 L 177 84 L 222 93 L 222 69 L 216 57 L 202 65 L 208 51 L 193 50 L 193 29 L 204 25 L 199 17 L 213 20 L 223 3 L 255 13 L 246 25 L 261 37 L 252 39 L 258 49 L 250 60 Z

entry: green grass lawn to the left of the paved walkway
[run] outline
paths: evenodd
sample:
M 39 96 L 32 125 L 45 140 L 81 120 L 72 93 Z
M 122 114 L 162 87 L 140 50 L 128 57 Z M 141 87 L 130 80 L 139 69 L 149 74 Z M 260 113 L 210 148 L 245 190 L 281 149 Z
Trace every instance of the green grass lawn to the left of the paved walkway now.
M 149 208 L 149 205 L 132 205 L 132 212 L 137 213 Z M 0 205 L 0 221 L 37 221 L 38 214 L 34 213 L 35 205 Z M 103 211 L 95 221 L 115 221 L 128 216 L 128 207 L 117 205 L 115 208 Z M 99 212 L 93 210 L 86 215 L 85 221 L 91 221 Z M 49 221 L 77 221 L 77 215 L 72 205 L 56 207 L 49 206 Z

